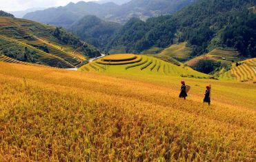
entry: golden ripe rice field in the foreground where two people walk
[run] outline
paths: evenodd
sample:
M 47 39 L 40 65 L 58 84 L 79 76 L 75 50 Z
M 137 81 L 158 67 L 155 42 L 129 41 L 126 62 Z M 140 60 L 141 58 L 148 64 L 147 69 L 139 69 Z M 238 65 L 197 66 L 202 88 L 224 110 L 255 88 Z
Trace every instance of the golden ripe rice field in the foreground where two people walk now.
M 0 161 L 255 161 L 256 85 L 0 62 Z M 211 84 L 212 103 L 202 103 Z

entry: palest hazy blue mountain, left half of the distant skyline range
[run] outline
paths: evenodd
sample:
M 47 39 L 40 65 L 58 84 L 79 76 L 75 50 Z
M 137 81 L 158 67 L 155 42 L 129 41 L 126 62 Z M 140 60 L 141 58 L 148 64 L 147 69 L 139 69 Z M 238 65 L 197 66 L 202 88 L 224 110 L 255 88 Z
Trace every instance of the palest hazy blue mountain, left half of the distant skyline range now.
M 83 18 L 85 15 L 95 15 L 97 17 L 108 17 L 112 10 L 119 6 L 115 3 L 98 4 L 93 2 L 80 1 L 69 3 L 67 6 L 59 8 L 48 8 L 42 11 L 30 12 L 23 18 L 41 23 L 48 23 L 53 26 L 69 28 L 72 23 Z

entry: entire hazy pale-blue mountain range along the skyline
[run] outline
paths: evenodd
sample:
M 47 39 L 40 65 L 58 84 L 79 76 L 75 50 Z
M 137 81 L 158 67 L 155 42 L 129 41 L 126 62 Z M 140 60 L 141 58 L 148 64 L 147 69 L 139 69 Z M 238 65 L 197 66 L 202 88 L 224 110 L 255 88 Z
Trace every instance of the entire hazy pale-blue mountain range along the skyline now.
M 95 3 L 84 2 L 69 3 L 59 8 L 49 8 L 43 11 L 30 12 L 23 18 L 54 26 L 69 28 L 72 23 L 86 15 L 95 15 L 101 19 L 126 23 L 130 18 L 137 17 L 146 20 L 149 17 L 157 17 L 161 14 L 170 14 L 180 10 L 184 6 L 193 3 L 194 0 L 132 0 L 121 6 L 113 2 Z

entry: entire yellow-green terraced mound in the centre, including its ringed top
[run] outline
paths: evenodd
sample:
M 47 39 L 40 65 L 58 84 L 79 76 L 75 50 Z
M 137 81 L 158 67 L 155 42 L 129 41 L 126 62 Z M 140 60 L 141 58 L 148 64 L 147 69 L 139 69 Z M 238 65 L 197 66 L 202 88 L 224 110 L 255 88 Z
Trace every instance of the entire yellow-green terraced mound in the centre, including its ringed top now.
M 127 61 L 128 60 L 128 61 Z M 104 72 L 138 75 L 167 75 L 182 77 L 208 78 L 208 74 L 197 72 L 191 68 L 174 65 L 155 57 L 135 54 L 115 54 L 103 57 L 79 68 L 86 72 Z

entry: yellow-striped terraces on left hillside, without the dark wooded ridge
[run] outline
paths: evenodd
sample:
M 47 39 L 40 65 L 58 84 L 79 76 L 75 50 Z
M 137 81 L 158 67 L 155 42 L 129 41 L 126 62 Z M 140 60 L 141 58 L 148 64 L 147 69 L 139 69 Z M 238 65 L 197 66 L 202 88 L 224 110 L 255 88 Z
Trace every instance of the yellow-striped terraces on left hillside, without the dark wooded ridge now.
M 8 48 L 10 52 L 17 53 L 28 48 L 35 52 L 33 57 L 38 63 L 59 68 L 75 68 L 86 61 L 78 48 L 62 45 L 52 36 L 55 27 L 10 17 L 0 17 L 0 24 L 0 52 Z M 46 47 L 48 52 L 40 47 Z

